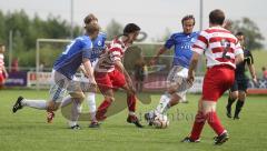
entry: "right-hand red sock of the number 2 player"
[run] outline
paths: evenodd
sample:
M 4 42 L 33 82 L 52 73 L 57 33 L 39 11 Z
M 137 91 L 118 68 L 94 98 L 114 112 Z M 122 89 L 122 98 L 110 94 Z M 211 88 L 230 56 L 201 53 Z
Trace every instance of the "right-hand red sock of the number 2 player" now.
M 216 112 L 208 112 L 206 118 L 207 118 L 209 125 L 214 129 L 214 131 L 218 135 L 220 135 L 225 131 L 225 128 L 221 125 L 220 120 L 217 117 Z

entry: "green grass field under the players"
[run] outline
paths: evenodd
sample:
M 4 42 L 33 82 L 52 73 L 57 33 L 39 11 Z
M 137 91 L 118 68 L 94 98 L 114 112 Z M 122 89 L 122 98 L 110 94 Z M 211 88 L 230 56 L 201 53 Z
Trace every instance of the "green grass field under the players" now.
M 0 91 L 0 151 L 266 151 L 267 150 L 267 97 L 249 95 L 241 112 L 241 119 L 234 121 L 225 115 L 226 97 L 218 103 L 218 114 L 227 128 L 230 140 L 224 145 L 212 145 L 215 133 L 205 127 L 201 142 L 181 143 L 191 129 L 199 95 L 189 94 L 188 104 L 178 104 L 169 110 L 170 127 L 165 130 L 137 129 L 126 123 L 127 111 L 107 119 L 100 129 L 89 129 L 88 122 L 80 122 L 81 130 L 67 129 L 60 111 L 53 123 L 46 123 L 44 111 L 24 108 L 16 114 L 11 107 L 18 95 L 32 99 L 48 98 L 47 91 L 1 90 Z M 138 114 L 144 114 L 158 102 L 152 95 L 151 104 L 138 103 Z M 100 101 L 98 97 L 98 102 Z M 144 118 L 141 121 L 145 124 Z

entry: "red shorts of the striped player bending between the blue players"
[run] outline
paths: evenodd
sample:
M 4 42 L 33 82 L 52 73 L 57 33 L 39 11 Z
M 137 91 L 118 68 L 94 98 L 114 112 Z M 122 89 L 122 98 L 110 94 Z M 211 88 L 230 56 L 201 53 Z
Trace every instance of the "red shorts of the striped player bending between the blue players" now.
M 101 92 L 107 89 L 117 90 L 126 84 L 125 74 L 117 69 L 111 72 L 95 72 L 95 78 Z

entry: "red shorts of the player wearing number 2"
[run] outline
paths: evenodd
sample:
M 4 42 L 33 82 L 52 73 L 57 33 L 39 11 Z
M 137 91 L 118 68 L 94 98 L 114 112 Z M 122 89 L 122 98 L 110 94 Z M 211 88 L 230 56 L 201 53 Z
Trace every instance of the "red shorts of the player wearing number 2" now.
M 202 100 L 217 101 L 235 81 L 235 69 L 216 66 L 208 69 L 202 85 Z

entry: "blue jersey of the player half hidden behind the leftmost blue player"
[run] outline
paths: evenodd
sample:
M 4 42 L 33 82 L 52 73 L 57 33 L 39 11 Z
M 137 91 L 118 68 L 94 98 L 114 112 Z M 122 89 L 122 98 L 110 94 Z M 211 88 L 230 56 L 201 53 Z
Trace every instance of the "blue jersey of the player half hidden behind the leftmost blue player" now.
M 102 53 L 102 51 L 106 49 L 105 48 L 106 39 L 107 39 L 107 36 L 101 32 L 92 41 L 92 52 L 91 52 L 91 58 L 90 58 L 91 62 L 96 61 L 99 58 L 99 56 Z

